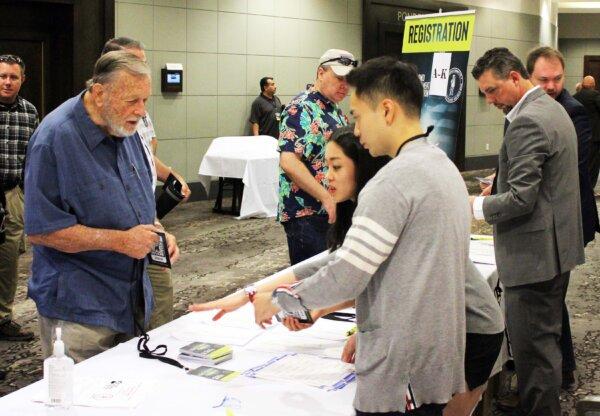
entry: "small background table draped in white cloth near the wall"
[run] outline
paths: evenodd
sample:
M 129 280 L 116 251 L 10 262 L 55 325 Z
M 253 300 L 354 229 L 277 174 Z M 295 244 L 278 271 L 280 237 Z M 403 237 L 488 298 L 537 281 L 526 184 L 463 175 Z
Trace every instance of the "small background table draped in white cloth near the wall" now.
M 277 214 L 279 152 L 277 139 L 271 136 L 214 139 L 198 175 L 207 194 L 213 176 L 242 179 L 244 196 L 238 219 Z

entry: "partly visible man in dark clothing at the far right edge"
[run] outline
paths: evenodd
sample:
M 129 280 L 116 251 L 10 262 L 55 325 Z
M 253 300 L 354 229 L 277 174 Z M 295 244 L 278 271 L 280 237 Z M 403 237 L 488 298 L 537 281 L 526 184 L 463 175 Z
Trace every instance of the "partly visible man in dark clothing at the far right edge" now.
M 592 188 L 598 181 L 600 171 L 600 93 L 596 91 L 596 80 L 588 75 L 583 78 L 581 90 L 573 96 L 585 107 L 592 125 L 592 142 L 590 144 L 589 170 Z

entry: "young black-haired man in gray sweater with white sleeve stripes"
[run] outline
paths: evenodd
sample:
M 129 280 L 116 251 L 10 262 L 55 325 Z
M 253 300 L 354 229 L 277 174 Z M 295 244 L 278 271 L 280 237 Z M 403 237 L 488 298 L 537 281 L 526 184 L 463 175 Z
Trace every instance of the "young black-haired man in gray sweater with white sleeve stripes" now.
M 427 142 L 411 66 L 376 58 L 347 79 L 355 134 L 373 156 L 393 160 L 360 192 L 335 257 L 275 290 L 273 303 L 257 295 L 256 319 L 356 299 L 357 415 L 441 415 L 465 388 L 467 190 L 452 161 Z M 406 402 L 409 383 L 416 409 Z

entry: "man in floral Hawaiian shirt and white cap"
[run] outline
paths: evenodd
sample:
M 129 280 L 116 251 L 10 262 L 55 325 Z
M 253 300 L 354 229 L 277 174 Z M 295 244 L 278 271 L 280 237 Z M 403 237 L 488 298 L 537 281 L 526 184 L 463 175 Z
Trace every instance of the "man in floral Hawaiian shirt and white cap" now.
M 327 247 L 336 204 L 327 191 L 325 144 L 348 124 L 337 104 L 348 93 L 345 77 L 356 65 L 350 52 L 329 49 L 319 59 L 314 86 L 292 99 L 282 114 L 278 220 L 287 235 L 291 264 Z

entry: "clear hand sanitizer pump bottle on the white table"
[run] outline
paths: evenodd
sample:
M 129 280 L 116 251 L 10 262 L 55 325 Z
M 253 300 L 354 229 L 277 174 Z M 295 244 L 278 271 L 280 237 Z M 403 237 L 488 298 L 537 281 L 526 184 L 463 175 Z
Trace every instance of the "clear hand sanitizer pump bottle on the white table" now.
M 75 363 L 65 355 L 62 328 L 56 328 L 52 356 L 44 360 L 44 379 L 48 382 L 48 406 L 69 407 L 73 402 L 73 368 Z

